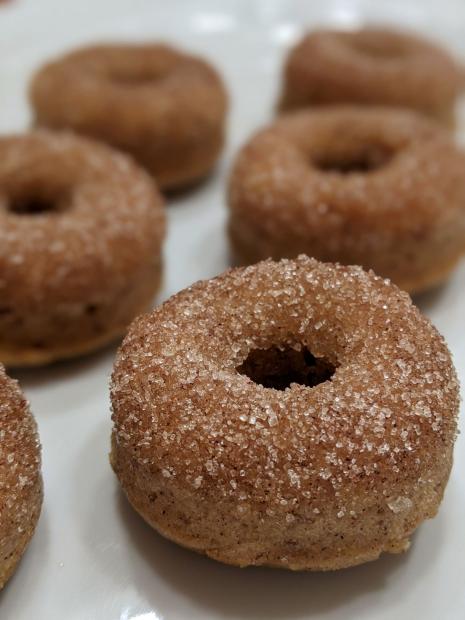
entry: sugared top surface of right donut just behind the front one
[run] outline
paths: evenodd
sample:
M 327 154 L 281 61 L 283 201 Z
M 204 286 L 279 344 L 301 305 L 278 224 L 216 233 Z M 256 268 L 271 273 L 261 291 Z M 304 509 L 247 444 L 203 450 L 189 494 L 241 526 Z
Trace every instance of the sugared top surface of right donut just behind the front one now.
M 464 173 L 464 153 L 419 114 L 329 106 L 259 131 L 236 159 L 229 198 L 277 237 L 291 229 L 329 248 L 355 239 L 380 251 L 391 237 L 464 227 Z

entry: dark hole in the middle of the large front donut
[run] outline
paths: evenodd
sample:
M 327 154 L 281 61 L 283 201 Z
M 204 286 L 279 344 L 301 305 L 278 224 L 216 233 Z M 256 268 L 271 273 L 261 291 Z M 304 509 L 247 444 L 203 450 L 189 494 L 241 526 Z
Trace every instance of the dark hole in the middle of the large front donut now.
M 271 347 L 252 350 L 236 369 L 254 383 L 285 390 L 292 383 L 313 388 L 329 381 L 336 367 L 325 358 L 315 357 L 307 347 Z

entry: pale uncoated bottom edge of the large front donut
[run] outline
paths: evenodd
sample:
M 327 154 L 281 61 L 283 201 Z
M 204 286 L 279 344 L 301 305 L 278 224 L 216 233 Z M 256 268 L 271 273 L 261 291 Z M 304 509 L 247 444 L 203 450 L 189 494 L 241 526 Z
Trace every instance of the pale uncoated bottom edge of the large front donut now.
M 346 547 L 342 552 L 338 550 L 328 556 L 326 553 L 319 555 L 318 549 L 321 543 L 319 540 L 316 540 L 314 545 L 309 544 L 309 539 L 305 539 L 301 541 L 302 544 L 291 545 L 289 549 L 284 549 L 282 545 L 274 548 L 273 542 L 270 543 L 266 534 L 243 543 L 234 542 L 225 546 L 211 546 L 205 539 L 189 535 L 187 530 L 190 527 L 186 528 L 183 519 L 178 518 L 179 506 L 176 505 L 174 496 L 166 497 L 166 488 L 156 489 L 158 485 L 154 484 L 153 480 L 145 481 L 150 486 L 153 485 L 153 493 L 148 494 L 147 489 L 139 488 L 137 481 L 140 480 L 141 472 L 138 471 L 135 461 L 127 452 L 118 448 L 114 435 L 111 440 L 109 459 L 131 507 L 163 538 L 185 549 L 238 568 L 261 566 L 310 572 L 350 568 L 377 560 L 384 553 L 400 554 L 407 551 L 410 547 L 410 537 L 418 526 L 425 519 L 432 519 L 436 516 L 452 467 L 452 459 L 445 459 L 440 476 L 432 481 L 430 488 L 425 489 L 424 493 L 415 499 L 414 503 L 418 505 L 417 514 L 409 519 L 408 523 L 397 524 L 397 536 L 384 540 L 364 541 L 360 546 Z M 163 498 L 163 505 L 158 509 L 155 509 L 150 499 L 151 496 L 156 495 Z M 375 520 L 379 519 L 378 514 L 373 517 Z M 222 522 L 226 523 L 225 520 Z

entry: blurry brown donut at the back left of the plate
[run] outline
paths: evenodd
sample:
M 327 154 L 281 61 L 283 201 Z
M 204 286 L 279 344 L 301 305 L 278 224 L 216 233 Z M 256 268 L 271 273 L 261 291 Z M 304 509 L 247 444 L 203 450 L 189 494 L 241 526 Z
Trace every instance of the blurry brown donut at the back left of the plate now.
M 206 61 L 167 45 L 95 45 L 32 80 L 36 124 L 127 151 L 164 190 L 204 177 L 224 143 L 227 96 Z

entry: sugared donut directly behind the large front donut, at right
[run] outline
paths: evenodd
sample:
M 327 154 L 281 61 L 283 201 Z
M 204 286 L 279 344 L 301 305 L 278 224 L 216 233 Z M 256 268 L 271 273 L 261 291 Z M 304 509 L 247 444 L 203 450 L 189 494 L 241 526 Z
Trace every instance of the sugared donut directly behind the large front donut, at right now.
M 239 264 L 304 253 L 416 293 L 442 282 L 465 251 L 465 155 L 408 110 L 280 117 L 240 151 L 228 201 Z

